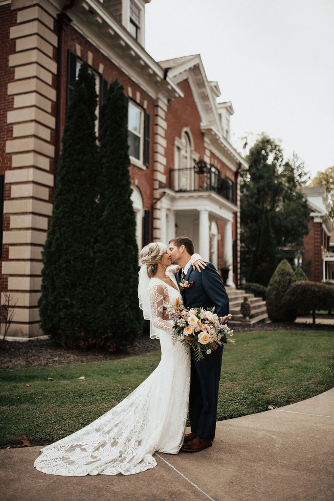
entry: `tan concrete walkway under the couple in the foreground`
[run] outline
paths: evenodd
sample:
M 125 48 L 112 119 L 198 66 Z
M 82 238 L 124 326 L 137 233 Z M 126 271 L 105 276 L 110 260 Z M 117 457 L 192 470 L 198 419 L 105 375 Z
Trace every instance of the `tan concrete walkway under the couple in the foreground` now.
M 39 447 L 0 450 L 2 501 L 332 501 L 334 389 L 220 421 L 212 447 L 157 454 L 130 476 L 61 477 L 35 470 Z

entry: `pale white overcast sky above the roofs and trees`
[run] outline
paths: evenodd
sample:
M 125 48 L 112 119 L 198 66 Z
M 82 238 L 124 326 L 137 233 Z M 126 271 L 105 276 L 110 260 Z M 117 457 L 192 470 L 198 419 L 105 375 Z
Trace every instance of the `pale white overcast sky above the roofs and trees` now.
M 201 54 L 240 152 L 263 131 L 311 177 L 334 165 L 334 0 L 151 0 L 145 38 L 156 61 Z

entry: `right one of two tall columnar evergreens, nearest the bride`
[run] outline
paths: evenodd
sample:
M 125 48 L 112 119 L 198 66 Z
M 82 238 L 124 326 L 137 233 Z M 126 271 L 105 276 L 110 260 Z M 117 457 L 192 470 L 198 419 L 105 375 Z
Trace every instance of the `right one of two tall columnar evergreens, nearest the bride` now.
M 142 326 L 138 306 L 138 247 L 131 201 L 128 101 L 123 86 L 109 86 L 101 110 L 100 222 L 95 260 L 96 328 L 106 347 L 122 347 Z

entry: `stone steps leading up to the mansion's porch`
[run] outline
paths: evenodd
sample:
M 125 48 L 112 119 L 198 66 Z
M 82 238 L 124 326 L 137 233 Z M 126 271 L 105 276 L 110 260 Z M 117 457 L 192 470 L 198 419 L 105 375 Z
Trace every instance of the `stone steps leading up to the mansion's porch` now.
M 269 322 L 265 301 L 262 301 L 262 298 L 256 298 L 254 294 L 246 294 L 242 289 L 226 287 L 226 292 L 230 303 L 230 314 L 232 315 L 232 319 L 228 322 L 229 327 L 245 327 L 258 322 Z M 245 296 L 250 304 L 250 316 L 247 320 L 244 320 L 240 313 L 241 303 Z

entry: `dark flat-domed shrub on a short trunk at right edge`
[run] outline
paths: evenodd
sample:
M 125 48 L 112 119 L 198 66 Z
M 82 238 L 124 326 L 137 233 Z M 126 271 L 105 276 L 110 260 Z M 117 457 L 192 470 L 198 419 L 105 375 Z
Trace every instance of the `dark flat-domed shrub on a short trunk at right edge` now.
M 313 326 L 316 310 L 330 310 L 334 305 L 334 287 L 318 282 L 294 282 L 282 299 L 283 308 L 312 311 Z

